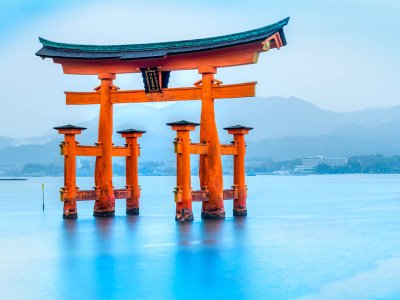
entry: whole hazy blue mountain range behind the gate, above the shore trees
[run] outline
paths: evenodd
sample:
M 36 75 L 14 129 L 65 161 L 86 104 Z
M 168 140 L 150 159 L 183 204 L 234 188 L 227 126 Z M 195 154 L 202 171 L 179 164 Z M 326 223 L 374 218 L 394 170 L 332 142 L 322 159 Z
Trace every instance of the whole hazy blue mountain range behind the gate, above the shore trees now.
M 222 127 L 236 124 L 254 127 L 247 136 L 249 157 L 292 159 L 319 154 L 400 153 L 400 106 L 339 113 L 320 109 L 299 98 L 271 97 L 216 100 L 215 110 L 221 142 L 231 140 Z M 114 110 L 114 131 L 131 127 L 146 130 L 140 139 L 142 159 L 173 159 L 175 133 L 165 123 L 182 119 L 198 122 L 200 111 L 200 101 L 179 102 L 163 108 L 118 105 Z M 97 123 L 95 118 L 77 124 L 88 128 L 77 137 L 82 145 L 96 142 Z M 53 125 L 60 124 L 49 127 Z M 191 136 L 197 141 L 198 130 Z M 0 165 L 52 162 L 57 160 L 60 141 L 56 133 L 25 141 L 0 137 Z M 30 145 L 20 145 L 23 143 Z M 121 145 L 124 141 L 115 133 L 114 143 Z

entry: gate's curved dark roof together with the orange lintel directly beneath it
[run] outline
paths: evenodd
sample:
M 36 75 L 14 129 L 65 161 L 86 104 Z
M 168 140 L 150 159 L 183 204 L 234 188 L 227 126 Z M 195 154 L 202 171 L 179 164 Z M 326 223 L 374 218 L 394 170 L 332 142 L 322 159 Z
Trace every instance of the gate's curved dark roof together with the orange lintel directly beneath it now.
M 138 72 L 137 68 L 150 67 L 165 71 L 196 69 L 201 65 L 227 67 L 255 63 L 258 53 L 285 46 L 283 27 L 288 22 L 286 18 L 265 27 L 224 36 L 147 44 L 79 45 L 39 38 L 43 47 L 36 55 L 52 58 L 63 65 L 65 73 L 71 74 L 131 73 Z M 251 54 L 251 59 L 244 58 L 246 54 Z M 221 61 L 221 57 L 227 56 L 231 58 L 229 62 Z M 176 59 L 181 62 L 177 63 Z M 189 63 L 190 60 L 194 63 Z

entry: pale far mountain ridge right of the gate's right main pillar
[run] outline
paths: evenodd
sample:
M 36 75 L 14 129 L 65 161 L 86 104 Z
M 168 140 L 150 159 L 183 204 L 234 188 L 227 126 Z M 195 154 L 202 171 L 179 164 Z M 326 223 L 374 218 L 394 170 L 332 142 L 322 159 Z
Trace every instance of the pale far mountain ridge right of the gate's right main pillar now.
M 217 102 L 216 110 L 218 119 L 222 121 L 220 124 L 236 122 L 253 126 L 250 140 L 335 135 L 342 133 L 340 128 L 344 133 L 346 127 L 352 126 L 370 130 L 400 124 L 400 106 L 340 113 L 320 109 L 294 97 L 221 100 Z M 382 127 L 382 133 L 383 130 Z

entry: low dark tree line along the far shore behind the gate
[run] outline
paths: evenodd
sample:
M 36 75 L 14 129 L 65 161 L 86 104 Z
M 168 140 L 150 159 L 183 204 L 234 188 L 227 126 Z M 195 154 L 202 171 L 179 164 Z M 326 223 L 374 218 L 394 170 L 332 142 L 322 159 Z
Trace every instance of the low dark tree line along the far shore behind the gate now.
M 246 171 L 251 174 L 270 174 L 274 171 L 292 171 L 301 165 L 301 159 L 274 161 L 265 158 L 249 158 L 246 161 Z M 232 174 L 232 159 L 223 160 L 224 173 Z M 115 163 L 113 172 L 116 176 L 125 175 L 123 163 Z M 192 166 L 192 174 L 197 174 L 197 164 Z M 93 176 L 94 161 L 82 160 L 77 168 L 78 176 Z M 315 174 L 400 174 L 400 156 L 361 155 L 348 158 L 344 166 L 318 165 Z M 1 168 L 0 176 L 63 176 L 63 164 L 26 164 L 22 168 Z M 152 176 L 167 176 L 176 174 L 175 161 L 144 161 L 139 163 L 139 174 Z

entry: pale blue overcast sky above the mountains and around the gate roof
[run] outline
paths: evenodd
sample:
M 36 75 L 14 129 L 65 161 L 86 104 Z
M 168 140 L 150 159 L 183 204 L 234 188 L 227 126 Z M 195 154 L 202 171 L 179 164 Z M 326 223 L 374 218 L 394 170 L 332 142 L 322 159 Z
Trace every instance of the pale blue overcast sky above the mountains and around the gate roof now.
M 184 40 L 288 16 L 286 47 L 261 54 L 255 65 L 219 69 L 216 78 L 258 81 L 257 96 L 294 96 L 334 111 L 400 105 L 398 0 L 3 0 L 0 136 L 40 136 L 98 114 L 97 106 L 66 106 L 64 96 L 92 91 L 97 77 L 65 75 L 52 60 L 36 57 L 39 36 L 81 44 Z M 198 79 L 196 71 L 174 72 L 170 84 L 191 86 Z M 143 88 L 138 74 L 119 75 L 115 84 Z

